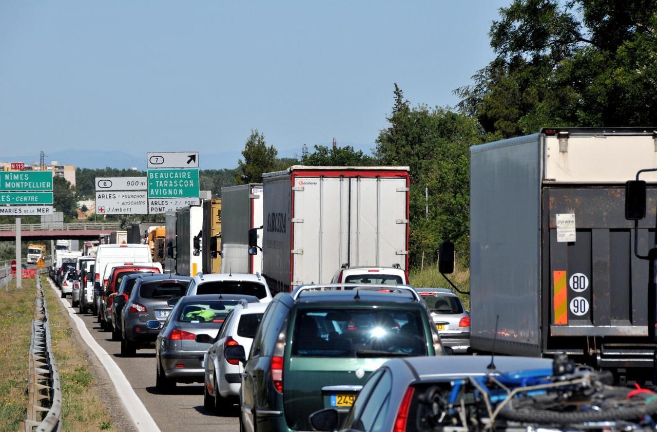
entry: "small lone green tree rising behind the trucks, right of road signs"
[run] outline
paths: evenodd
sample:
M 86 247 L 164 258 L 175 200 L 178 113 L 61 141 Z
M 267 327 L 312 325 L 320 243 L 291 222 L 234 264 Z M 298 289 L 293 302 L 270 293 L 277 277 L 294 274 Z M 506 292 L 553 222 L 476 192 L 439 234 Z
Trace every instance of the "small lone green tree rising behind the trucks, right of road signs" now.
M 242 151 L 244 161 L 242 159 L 237 161 L 235 184 L 261 183 L 264 172 L 272 172 L 280 168 L 276 158 L 278 153 L 273 145 L 267 147 L 265 135 L 258 133 L 257 129 L 251 130 L 251 135 Z

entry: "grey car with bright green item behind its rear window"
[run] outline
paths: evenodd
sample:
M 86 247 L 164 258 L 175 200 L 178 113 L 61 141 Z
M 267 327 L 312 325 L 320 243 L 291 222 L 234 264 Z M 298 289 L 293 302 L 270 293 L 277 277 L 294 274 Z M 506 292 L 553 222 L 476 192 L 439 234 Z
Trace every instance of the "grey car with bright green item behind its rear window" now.
M 202 383 L 203 358 L 229 313 L 253 296 L 191 295 L 180 299 L 155 343 L 156 387 L 170 391 L 175 383 Z M 201 339 L 201 337 L 204 337 Z

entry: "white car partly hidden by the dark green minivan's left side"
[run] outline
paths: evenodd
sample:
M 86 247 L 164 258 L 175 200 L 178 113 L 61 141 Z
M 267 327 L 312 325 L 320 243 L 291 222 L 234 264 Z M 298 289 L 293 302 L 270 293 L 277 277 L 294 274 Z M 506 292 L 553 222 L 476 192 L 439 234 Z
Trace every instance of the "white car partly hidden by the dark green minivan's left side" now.
M 228 314 L 217 337 L 203 358 L 205 385 L 203 404 L 215 414 L 225 411 L 233 401 L 226 398 L 238 396 L 242 385 L 243 366 L 237 360 L 226 360 L 225 347 L 241 345 L 244 352 L 250 352 L 253 338 L 258 330 L 269 303 L 244 303 L 235 306 Z M 208 336 L 209 338 L 209 336 Z

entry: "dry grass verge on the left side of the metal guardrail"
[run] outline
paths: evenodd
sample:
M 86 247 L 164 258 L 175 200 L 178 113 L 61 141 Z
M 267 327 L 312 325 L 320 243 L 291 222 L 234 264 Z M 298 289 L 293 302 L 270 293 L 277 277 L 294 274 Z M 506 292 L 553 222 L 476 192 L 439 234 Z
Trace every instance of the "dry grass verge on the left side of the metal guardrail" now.
M 28 408 L 28 351 L 34 318 L 34 279 L 0 289 L 0 431 L 16 431 Z

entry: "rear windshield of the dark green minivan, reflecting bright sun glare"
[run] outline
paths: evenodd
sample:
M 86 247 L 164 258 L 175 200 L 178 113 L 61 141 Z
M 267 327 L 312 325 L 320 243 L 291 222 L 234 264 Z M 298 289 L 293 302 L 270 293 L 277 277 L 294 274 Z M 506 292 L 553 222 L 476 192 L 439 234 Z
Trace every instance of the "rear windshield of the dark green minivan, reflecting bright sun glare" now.
M 394 357 L 426 355 L 419 310 L 342 308 L 300 310 L 292 354 L 306 357 Z

